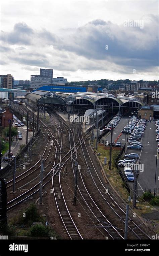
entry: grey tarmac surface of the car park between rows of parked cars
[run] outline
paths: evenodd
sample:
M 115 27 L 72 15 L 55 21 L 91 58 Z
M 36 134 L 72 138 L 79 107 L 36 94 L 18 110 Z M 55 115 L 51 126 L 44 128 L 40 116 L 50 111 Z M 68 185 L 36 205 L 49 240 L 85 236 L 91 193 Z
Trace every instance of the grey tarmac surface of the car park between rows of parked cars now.
M 128 117 L 122 117 L 117 127 L 113 130 L 113 141 L 117 139 L 124 126 L 128 123 Z M 145 191 L 149 189 L 154 192 L 155 186 L 155 170 L 156 170 L 156 157 L 157 155 L 157 143 L 156 143 L 156 133 L 155 133 L 155 123 L 147 122 L 146 128 L 144 130 L 144 135 L 141 139 L 143 145 L 142 150 L 130 150 L 127 149 L 127 134 L 122 134 L 117 141 L 125 143 L 126 139 L 126 150 L 125 154 L 137 153 L 140 155 L 138 162 L 140 161 L 142 169 L 139 171 L 138 178 L 138 195 L 142 196 Z M 128 135 L 129 137 L 130 135 Z M 107 134 L 104 139 L 111 140 L 111 133 Z M 159 154 L 158 154 L 159 155 Z M 159 158 L 159 156 L 158 156 Z M 131 189 L 133 189 L 133 183 L 129 183 Z M 156 172 L 156 188 L 159 190 L 159 160 L 157 159 L 157 172 Z

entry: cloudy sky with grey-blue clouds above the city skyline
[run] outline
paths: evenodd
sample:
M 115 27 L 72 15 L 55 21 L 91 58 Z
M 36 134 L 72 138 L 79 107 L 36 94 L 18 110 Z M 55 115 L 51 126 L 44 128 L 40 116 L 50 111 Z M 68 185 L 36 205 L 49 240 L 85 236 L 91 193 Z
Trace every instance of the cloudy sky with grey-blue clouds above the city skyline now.
M 158 80 L 158 1 L 14 1 L 0 4 L 0 70 L 40 68 L 67 81 Z

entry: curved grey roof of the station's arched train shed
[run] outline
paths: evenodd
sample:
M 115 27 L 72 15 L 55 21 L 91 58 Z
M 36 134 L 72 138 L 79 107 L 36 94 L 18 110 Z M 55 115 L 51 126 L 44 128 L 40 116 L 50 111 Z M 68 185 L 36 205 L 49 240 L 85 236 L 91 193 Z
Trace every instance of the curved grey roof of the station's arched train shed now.
M 30 93 L 26 97 L 35 103 L 43 104 L 70 104 L 70 105 L 100 105 L 100 106 L 121 106 L 121 107 L 139 107 L 144 105 L 141 101 L 134 97 L 114 96 L 108 93 L 53 93 L 41 91 L 40 89 Z

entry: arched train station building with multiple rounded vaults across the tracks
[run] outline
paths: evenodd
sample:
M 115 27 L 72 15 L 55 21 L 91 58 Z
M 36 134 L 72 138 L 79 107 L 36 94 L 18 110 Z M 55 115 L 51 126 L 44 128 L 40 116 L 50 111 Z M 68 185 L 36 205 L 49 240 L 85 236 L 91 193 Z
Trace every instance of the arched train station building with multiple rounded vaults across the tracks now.
M 37 107 L 38 104 L 54 105 L 61 110 L 70 113 L 78 109 L 96 109 L 102 107 L 113 114 L 128 114 L 139 109 L 144 104 L 134 97 L 114 96 L 105 93 L 77 92 L 61 93 L 46 90 L 36 90 L 26 97 L 27 103 L 31 107 Z

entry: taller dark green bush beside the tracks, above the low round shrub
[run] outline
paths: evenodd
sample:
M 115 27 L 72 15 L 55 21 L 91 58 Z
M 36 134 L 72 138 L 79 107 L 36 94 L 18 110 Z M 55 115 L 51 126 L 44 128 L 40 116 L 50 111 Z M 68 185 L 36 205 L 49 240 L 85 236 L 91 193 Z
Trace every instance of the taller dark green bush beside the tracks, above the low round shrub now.
M 25 217 L 23 218 L 23 222 L 25 224 L 31 225 L 34 221 L 39 221 L 39 219 L 40 215 L 38 213 L 37 206 L 32 203 L 25 211 Z

